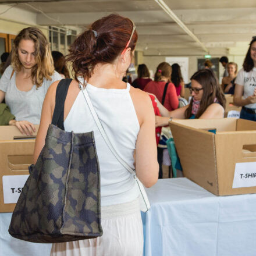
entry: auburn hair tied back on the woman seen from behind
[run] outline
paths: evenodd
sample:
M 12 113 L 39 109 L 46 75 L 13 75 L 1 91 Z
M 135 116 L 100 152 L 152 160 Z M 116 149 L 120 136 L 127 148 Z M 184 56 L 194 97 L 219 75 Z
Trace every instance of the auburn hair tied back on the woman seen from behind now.
M 133 22 L 112 14 L 95 21 L 80 34 L 70 46 L 66 61 L 72 62 L 74 78 L 83 77 L 85 84 L 98 63 L 113 63 L 126 48 L 133 30 Z M 134 50 L 138 35 L 136 30 L 127 48 Z

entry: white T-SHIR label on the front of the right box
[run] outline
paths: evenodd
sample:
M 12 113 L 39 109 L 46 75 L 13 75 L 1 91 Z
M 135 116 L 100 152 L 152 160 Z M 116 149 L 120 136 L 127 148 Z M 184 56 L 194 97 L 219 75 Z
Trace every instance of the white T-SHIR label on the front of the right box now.
M 256 162 L 236 163 L 233 189 L 256 186 Z

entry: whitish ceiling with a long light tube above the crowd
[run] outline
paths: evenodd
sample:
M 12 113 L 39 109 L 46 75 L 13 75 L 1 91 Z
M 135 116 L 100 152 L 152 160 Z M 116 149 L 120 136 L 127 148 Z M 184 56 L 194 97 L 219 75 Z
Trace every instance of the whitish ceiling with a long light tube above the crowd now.
M 137 49 L 149 56 L 229 55 L 247 47 L 256 35 L 256 0 L 163 0 L 180 25 L 158 2 L 162 0 L 0 0 L 37 13 L 37 24 L 42 26 L 86 27 L 102 16 L 119 13 L 134 21 Z

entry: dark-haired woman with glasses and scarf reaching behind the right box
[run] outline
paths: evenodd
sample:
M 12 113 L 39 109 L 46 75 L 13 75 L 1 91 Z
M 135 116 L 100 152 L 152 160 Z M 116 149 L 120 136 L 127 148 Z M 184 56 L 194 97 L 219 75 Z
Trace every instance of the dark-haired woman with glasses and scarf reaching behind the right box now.
M 211 69 L 201 69 L 195 72 L 190 80 L 190 104 L 169 112 L 158 102 L 162 116 L 155 117 L 156 126 L 168 125 L 169 120 L 173 118 L 223 118 L 226 99 L 214 72 Z

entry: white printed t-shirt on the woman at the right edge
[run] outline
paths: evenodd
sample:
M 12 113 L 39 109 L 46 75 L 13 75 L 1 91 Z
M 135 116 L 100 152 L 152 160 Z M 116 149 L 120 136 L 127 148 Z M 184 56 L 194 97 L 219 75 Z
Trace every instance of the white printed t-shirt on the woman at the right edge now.
M 244 99 L 253 95 L 254 89 L 256 88 L 256 67 L 253 67 L 250 72 L 244 71 L 243 68 L 240 69 L 234 83 L 240 84 L 240 86 L 244 87 Z M 248 104 L 246 105 L 246 108 L 256 108 L 256 103 Z

